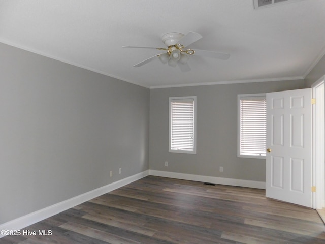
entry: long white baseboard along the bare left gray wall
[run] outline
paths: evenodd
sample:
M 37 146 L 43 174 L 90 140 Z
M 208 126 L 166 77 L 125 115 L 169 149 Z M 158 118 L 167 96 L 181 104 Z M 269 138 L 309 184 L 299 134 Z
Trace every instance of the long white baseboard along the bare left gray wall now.
M 66 201 L 56 203 L 54 205 L 48 206 L 46 208 L 40 209 L 35 212 L 31 212 L 28 215 L 22 216 L 20 218 L 17 218 L 15 220 L 12 220 L 12 221 L 9 221 L 9 222 L 6 222 L 6 223 L 0 225 L 0 231 L 1 230 L 23 229 L 29 225 L 35 224 L 39 221 L 42 221 L 42 220 L 47 219 L 53 215 L 56 215 L 59 212 L 65 211 L 65 210 L 72 208 L 74 206 L 77 206 L 83 202 L 89 201 L 90 199 L 93 199 L 95 197 L 99 197 L 105 193 L 111 192 L 117 188 L 125 186 L 133 181 L 136 181 L 136 180 L 146 177 L 148 175 L 149 175 L 149 170 L 146 170 L 139 174 L 135 174 L 135 175 L 129 176 L 127 178 L 115 181 L 115 182 L 113 182 L 109 185 L 106 185 L 104 187 L 100 187 L 100 188 L 94 189 L 90 192 L 86 192 L 79 196 L 70 198 Z M 0 238 L 2 238 L 2 237 L 4 237 L 4 235 L 0 234 Z

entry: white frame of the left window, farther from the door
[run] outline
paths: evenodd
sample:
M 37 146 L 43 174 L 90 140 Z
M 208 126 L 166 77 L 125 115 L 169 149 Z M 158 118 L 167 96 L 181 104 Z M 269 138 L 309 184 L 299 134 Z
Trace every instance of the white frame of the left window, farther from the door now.
M 172 102 L 193 100 L 193 149 L 173 149 L 172 148 Z M 169 152 L 170 153 L 184 153 L 196 154 L 197 153 L 197 97 L 170 97 L 169 98 Z

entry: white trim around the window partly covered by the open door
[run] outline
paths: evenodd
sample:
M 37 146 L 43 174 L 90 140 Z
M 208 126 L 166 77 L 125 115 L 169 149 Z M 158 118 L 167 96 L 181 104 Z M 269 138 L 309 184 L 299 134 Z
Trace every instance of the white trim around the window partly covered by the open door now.
M 237 95 L 237 157 L 238 158 L 252 158 L 252 159 L 266 159 L 266 155 L 245 155 L 241 154 L 241 99 L 248 97 L 264 97 L 265 93 L 258 94 L 238 94 Z

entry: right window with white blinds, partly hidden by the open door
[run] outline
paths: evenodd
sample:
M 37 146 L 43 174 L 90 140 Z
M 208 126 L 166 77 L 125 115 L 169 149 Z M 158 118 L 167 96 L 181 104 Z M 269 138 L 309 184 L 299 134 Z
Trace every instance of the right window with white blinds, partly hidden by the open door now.
M 238 157 L 266 156 L 266 96 L 238 95 Z

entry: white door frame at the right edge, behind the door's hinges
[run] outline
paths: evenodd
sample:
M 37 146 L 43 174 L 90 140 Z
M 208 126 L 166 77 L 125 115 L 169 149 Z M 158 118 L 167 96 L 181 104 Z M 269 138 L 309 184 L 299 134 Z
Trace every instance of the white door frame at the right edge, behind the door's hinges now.
M 325 75 L 312 84 L 312 97 L 316 104 L 312 106 L 312 167 L 313 167 L 313 208 L 325 207 Z

